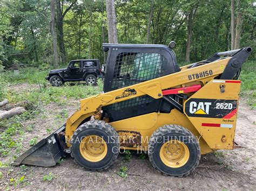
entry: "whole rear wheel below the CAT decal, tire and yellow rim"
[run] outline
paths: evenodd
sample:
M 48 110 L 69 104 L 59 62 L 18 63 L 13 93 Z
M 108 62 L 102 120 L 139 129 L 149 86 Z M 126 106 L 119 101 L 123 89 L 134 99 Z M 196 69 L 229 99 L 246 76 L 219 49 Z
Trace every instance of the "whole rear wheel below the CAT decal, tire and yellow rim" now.
M 173 176 L 190 174 L 201 157 L 198 139 L 179 125 L 165 125 L 154 131 L 148 154 L 154 168 Z

